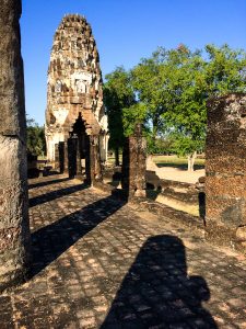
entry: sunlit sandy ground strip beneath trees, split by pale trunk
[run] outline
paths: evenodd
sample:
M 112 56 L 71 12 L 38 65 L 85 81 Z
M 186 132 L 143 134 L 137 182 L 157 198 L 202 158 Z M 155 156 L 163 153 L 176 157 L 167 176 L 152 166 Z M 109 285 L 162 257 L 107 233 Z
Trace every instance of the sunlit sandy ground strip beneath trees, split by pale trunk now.
M 173 167 L 187 169 L 187 158 L 177 156 L 153 156 L 153 161 L 157 167 Z M 195 170 L 204 168 L 204 159 L 197 158 L 195 161 Z

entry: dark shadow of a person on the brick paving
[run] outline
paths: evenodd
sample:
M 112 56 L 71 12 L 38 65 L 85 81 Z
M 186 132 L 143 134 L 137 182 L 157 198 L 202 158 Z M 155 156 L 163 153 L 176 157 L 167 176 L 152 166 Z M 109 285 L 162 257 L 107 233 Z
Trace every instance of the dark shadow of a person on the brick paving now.
M 125 276 L 101 329 L 218 328 L 202 302 L 202 276 L 188 276 L 185 246 L 175 236 L 147 240 Z

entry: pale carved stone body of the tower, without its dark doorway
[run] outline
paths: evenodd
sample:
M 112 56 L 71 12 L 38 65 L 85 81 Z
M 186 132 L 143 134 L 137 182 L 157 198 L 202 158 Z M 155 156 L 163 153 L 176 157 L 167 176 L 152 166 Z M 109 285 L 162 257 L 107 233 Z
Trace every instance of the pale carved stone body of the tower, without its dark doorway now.
M 47 88 L 48 160 L 55 160 L 55 145 L 68 139 L 80 113 L 87 135 L 107 135 L 98 52 L 83 16 L 65 16 L 56 31 Z

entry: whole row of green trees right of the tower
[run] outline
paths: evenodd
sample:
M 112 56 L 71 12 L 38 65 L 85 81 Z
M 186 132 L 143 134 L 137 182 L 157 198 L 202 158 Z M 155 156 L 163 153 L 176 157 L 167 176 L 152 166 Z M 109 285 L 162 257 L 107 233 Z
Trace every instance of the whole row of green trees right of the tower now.
M 106 75 L 104 102 L 108 115 L 109 147 L 118 164 L 124 136 L 143 123 L 148 150 L 188 157 L 194 170 L 204 148 L 206 102 L 230 92 L 246 92 L 246 53 L 229 45 L 190 50 L 185 45 L 157 48 L 150 58 L 127 71 Z

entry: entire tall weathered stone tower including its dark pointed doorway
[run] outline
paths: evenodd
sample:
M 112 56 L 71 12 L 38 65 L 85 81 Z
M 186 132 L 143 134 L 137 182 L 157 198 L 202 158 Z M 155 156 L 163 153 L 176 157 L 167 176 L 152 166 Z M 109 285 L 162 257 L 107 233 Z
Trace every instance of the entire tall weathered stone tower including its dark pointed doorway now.
M 65 16 L 56 32 L 47 98 L 48 160 L 70 177 L 99 179 L 107 159 L 107 116 L 95 39 L 80 15 Z

